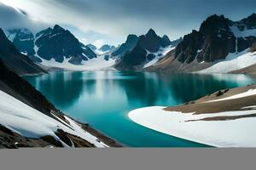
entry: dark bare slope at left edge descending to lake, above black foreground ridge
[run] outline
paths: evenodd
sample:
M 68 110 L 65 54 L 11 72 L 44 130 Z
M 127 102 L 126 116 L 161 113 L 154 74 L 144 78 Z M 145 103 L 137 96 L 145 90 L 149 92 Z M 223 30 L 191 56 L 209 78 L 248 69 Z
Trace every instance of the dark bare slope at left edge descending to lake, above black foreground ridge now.
M 0 59 L 11 71 L 20 75 L 45 72 L 26 55 L 20 54 L 14 44 L 5 36 L 2 29 L 0 29 Z

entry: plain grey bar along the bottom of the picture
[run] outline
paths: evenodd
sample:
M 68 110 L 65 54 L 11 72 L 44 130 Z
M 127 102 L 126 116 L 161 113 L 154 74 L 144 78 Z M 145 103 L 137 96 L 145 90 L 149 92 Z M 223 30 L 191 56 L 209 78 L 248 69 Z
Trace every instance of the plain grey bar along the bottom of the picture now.
M 247 170 L 256 149 L 20 149 L 0 150 L 2 170 Z

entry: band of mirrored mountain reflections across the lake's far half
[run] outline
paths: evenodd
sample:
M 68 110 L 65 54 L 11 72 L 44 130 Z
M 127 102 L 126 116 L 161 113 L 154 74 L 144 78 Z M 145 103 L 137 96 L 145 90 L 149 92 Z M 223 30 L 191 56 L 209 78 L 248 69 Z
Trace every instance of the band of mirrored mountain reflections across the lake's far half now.
M 253 78 L 245 75 L 118 71 L 54 72 L 26 79 L 60 108 L 72 107 L 84 94 L 92 98 L 91 102 L 102 104 L 118 97 L 125 98 L 129 105 L 177 105 L 221 88 L 235 88 L 254 82 Z

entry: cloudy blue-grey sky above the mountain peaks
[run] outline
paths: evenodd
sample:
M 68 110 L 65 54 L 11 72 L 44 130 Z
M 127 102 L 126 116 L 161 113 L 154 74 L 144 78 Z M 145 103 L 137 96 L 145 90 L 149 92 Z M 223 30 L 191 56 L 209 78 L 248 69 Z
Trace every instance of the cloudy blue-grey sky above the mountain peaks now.
M 0 0 L 23 12 L 0 8 L 0 24 L 53 26 L 59 24 L 84 43 L 117 45 L 128 34 L 145 34 L 153 28 L 170 39 L 183 37 L 211 14 L 241 20 L 256 13 L 256 0 Z M 21 10 L 20 10 L 21 9 Z M 3 13 L 3 10 L 5 12 Z M 7 11 L 6 11 L 7 10 Z M 9 12 L 6 14 L 6 12 Z M 21 14 L 22 15 L 22 14 Z M 11 18 L 12 17 L 12 18 Z M 18 18 L 19 22 L 10 23 Z M 30 20 L 27 21 L 26 18 Z M 22 21 L 22 23 L 21 23 Z M 25 24 L 24 24 L 25 23 Z

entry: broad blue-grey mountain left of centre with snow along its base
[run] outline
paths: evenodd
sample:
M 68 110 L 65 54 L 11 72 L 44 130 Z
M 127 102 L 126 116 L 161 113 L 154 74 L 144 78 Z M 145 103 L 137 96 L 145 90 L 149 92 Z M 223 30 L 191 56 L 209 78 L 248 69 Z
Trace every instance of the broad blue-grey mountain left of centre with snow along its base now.
M 28 29 L 5 33 L 22 54 L 41 65 L 76 71 L 105 70 L 113 65 L 113 59 L 105 56 L 112 52 L 113 46 L 109 46 L 111 51 L 102 47 L 96 54 L 89 45 L 85 46 L 70 31 L 58 25 L 35 35 Z

